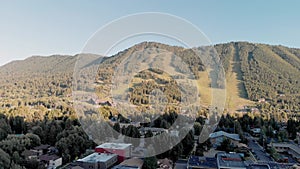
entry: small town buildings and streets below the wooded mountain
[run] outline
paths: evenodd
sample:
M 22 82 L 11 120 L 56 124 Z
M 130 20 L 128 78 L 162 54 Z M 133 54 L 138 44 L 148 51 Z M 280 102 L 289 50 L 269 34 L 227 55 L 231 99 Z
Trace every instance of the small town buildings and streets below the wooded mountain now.
M 178 136 L 178 132 L 145 127 L 142 126 L 145 124 L 137 122 L 114 122 L 114 126 L 116 125 L 123 126 L 123 129 L 125 126 L 137 128 L 140 138 L 145 138 L 149 133 L 154 135 L 169 133 L 173 137 Z M 278 131 L 273 131 L 273 136 L 278 136 L 278 132 L 287 132 L 287 127 L 281 124 Z M 38 160 L 47 169 L 142 169 L 145 163 L 146 165 L 152 163 L 158 169 L 289 169 L 299 166 L 299 132 L 296 133 L 294 140 L 285 138 L 279 141 L 277 137 L 263 138 L 261 142 L 263 135 L 261 128 L 251 128 L 249 132 L 242 132 L 242 136 L 241 131 L 236 131 L 237 128 L 218 127 L 218 131 L 211 133 L 205 143 L 200 143 L 197 135 L 199 131 L 194 125 L 193 140 L 189 142 L 192 144 L 191 152 L 178 156 L 175 161 L 167 157 L 163 159 L 144 157 L 141 153 L 144 146 L 142 141 L 136 147 L 130 143 L 106 142 L 94 149 L 87 149 L 88 155 L 65 165 L 62 163 L 62 157 L 58 155 L 58 150 L 50 145 L 39 145 L 25 150 L 22 156 L 27 160 Z

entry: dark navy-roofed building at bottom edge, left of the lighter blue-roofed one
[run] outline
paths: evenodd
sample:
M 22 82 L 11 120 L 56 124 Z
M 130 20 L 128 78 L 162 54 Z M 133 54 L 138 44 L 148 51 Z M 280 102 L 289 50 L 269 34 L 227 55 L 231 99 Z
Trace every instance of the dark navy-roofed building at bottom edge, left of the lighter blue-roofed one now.
M 188 169 L 217 169 L 217 159 L 211 157 L 191 156 L 187 164 Z

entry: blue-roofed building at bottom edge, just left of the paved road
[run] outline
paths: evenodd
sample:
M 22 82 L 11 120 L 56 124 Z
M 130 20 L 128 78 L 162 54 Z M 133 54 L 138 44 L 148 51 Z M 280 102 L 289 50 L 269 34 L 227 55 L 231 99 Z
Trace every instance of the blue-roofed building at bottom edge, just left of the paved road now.
M 237 153 L 217 153 L 218 169 L 246 169 L 247 165 Z

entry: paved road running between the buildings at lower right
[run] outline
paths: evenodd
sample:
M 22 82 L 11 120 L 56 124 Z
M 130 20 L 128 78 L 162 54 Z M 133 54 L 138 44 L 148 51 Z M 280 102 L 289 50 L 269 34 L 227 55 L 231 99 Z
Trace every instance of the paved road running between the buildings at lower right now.
M 249 140 L 248 146 L 253 150 L 253 155 L 257 161 L 274 161 L 252 136 L 247 136 L 247 139 Z

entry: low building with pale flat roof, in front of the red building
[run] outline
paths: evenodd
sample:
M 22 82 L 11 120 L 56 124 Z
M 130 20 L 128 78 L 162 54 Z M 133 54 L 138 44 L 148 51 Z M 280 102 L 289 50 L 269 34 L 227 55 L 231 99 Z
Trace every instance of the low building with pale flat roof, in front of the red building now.
M 93 153 L 76 161 L 84 169 L 107 169 L 118 161 L 118 155 L 111 153 Z

